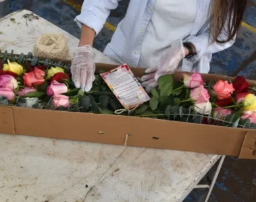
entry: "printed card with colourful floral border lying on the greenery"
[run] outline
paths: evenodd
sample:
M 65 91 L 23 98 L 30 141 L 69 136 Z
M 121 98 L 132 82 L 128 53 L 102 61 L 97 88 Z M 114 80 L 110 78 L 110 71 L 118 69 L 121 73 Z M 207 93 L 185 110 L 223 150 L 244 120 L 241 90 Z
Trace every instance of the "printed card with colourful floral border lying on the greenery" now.
M 134 108 L 150 100 L 149 95 L 126 64 L 101 73 L 101 77 L 126 109 Z

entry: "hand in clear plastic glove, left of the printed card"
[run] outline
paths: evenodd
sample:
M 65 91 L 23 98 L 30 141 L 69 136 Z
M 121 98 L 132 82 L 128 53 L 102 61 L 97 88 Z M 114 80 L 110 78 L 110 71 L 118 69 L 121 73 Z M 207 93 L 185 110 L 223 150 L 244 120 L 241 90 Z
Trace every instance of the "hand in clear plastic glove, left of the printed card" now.
M 88 92 L 95 80 L 95 63 L 92 46 L 85 45 L 76 48 L 71 65 L 72 80 L 76 88 Z

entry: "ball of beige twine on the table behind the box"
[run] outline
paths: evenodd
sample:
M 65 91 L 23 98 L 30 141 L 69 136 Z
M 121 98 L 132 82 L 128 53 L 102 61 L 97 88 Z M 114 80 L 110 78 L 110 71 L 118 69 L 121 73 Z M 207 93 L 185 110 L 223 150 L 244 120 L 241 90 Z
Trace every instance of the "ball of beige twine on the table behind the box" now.
M 34 55 L 47 59 L 70 60 L 68 43 L 63 34 L 42 34 L 34 44 Z

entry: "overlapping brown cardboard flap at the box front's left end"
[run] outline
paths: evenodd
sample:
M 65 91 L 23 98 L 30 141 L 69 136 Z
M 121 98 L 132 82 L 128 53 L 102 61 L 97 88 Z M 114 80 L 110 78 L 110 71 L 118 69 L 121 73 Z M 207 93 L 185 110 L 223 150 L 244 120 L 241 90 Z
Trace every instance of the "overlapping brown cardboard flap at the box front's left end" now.
M 0 132 L 15 135 L 14 116 L 9 107 L 0 107 Z

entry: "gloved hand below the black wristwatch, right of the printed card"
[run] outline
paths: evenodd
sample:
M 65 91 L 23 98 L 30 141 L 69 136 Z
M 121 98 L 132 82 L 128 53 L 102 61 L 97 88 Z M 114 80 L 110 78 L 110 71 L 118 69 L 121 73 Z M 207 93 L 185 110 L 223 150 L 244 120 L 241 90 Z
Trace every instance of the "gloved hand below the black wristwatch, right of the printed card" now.
M 145 87 L 147 91 L 157 87 L 157 79 L 162 75 L 173 74 L 176 69 L 178 69 L 178 65 L 184 57 L 185 49 L 182 40 L 174 41 L 172 46 L 163 52 L 157 65 L 145 71 L 146 75 L 141 77 L 143 87 Z

